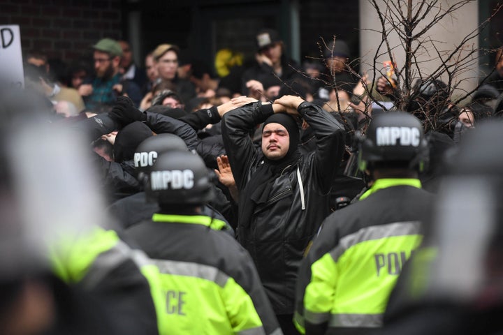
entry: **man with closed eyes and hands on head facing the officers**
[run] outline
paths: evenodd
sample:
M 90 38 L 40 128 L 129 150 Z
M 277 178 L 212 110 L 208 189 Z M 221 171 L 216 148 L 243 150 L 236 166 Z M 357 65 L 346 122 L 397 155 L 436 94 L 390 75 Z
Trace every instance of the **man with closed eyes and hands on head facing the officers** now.
M 330 185 L 342 159 L 344 127 L 321 107 L 298 96 L 274 103 L 239 97 L 246 105 L 226 112 L 222 135 L 239 191 L 237 239 L 258 269 L 285 334 L 293 327 L 298 266 L 323 218 Z M 298 151 L 298 118 L 316 134 L 316 150 Z M 261 149 L 249 134 L 263 123 Z

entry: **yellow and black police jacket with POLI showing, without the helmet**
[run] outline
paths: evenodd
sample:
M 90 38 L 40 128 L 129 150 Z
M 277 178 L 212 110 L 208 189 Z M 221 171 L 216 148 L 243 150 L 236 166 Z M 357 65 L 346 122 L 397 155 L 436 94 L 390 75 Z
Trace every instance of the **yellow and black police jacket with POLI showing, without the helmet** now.
M 323 221 L 303 260 L 294 322 L 305 334 L 380 327 L 404 262 L 421 243 L 433 195 L 418 179 L 378 179 Z

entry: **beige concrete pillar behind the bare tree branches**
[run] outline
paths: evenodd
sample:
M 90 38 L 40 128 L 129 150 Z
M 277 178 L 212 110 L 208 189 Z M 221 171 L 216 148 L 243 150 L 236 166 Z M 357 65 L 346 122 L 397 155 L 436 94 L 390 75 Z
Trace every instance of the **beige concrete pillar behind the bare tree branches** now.
M 383 42 L 381 36 L 382 26 L 379 21 L 379 16 L 377 15 L 377 10 L 372 6 L 370 0 L 359 1 L 361 70 L 363 72 L 366 71 L 370 75 L 370 80 L 372 80 L 372 68 L 375 67 L 378 70 L 376 73 L 378 77 L 380 75 L 379 70 L 382 70 L 384 67 L 383 61 L 388 61 L 390 56 L 387 52 L 386 44 L 381 44 Z M 407 3 L 409 1 L 391 1 L 393 1 L 395 6 L 402 6 L 402 10 L 405 13 L 404 15 L 407 15 Z M 391 3 L 391 1 L 389 1 L 389 3 Z M 380 10 L 384 13 L 386 10 L 385 2 L 388 1 L 376 0 L 376 2 Z M 411 1 L 413 8 L 417 8 L 420 2 L 420 0 Z M 459 1 L 456 0 L 440 0 L 439 6 L 448 8 L 458 2 Z M 389 9 L 394 10 L 393 8 Z M 432 10 L 432 13 L 425 17 L 423 22 L 414 29 L 413 34 L 421 31 L 427 22 L 431 22 L 433 15 L 437 12 L 438 10 Z M 414 10 L 413 13 L 415 13 Z M 462 8 L 455 10 L 453 14 L 447 15 L 439 23 L 435 24 L 435 27 L 432 27 L 432 29 L 423 36 L 423 47 L 414 54 L 416 57 L 414 63 L 417 65 L 412 67 L 414 69 L 412 77 L 427 77 L 432 74 L 435 69 L 441 66 L 441 59 L 446 59 L 447 55 L 455 50 L 455 48 L 462 43 L 464 38 L 473 36 L 472 39 L 466 40 L 465 43 L 463 43 L 464 49 L 460 52 L 456 52 L 455 57 L 448 61 L 447 64 L 453 64 L 459 57 L 467 57 L 469 50 L 474 50 L 479 47 L 478 38 L 476 36 L 478 24 L 479 14 L 477 1 L 472 1 Z M 390 26 L 387 25 L 386 27 Z M 390 34 L 388 40 L 391 47 L 391 54 L 395 57 L 398 68 L 402 68 L 405 63 L 405 50 L 402 40 L 400 40 L 398 34 L 395 33 Z M 414 43 L 413 48 L 417 45 L 417 43 Z M 435 48 L 437 50 L 435 50 Z M 472 57 L 469 57 L 469 61 L 463 61 L 465 63 L 462 66 L 463 70 L 453 77 L 452 84 L 459 84 L 459 88 L 453 93 L 453 98 L 462 96 L 467 91 L 471 91 L 476 87 L 479 73 L 479 65 L 476 57 L 478 57 L 478 52 L 475 52 Z M 444 74 L 439 79 L 447 82 L 449 77 Z

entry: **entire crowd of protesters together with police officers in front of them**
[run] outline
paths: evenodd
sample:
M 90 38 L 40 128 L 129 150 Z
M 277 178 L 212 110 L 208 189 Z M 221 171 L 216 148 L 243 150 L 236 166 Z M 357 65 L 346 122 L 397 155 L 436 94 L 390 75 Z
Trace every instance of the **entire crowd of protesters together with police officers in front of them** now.
M 256 47 L 26 55 L 0 96 L 1 333 L 503 331 L 501 50 L 469 103 L 425 79 L 396 110 L 343 40 L 302 66 L 273 29 Z

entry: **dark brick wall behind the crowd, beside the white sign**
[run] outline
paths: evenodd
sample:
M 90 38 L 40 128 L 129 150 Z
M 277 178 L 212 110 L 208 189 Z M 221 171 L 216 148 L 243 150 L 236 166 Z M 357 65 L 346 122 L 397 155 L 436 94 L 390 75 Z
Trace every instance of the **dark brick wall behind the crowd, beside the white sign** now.
M 0 0 L 0 24 L 18 24 L 23 54 L 77 60 L 103 37 L 122 37 L 121 0 Z

